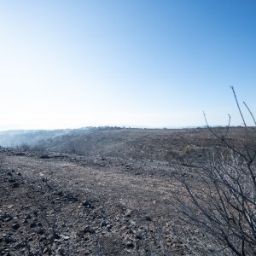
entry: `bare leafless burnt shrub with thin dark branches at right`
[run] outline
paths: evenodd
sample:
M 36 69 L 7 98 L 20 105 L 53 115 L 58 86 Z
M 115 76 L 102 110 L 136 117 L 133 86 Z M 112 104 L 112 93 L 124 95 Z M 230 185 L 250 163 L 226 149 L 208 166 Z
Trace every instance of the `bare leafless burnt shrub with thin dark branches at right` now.
M 245 104 L 254 126 L 247 126 L 236 92 L 231 87 L 243 126 L 242 143 L 229 137 L 230 121 L 224 134 L 207 123 L 207 128 L 223 147 L 212 148 L 207 160 L 191 166 L 193 175 L 179 177 L 183 196 L 177 197 L 183 220 L 218 241 L 212 253 L 256 255 L 256 122 Z M 207 122 L 207 119 L 206 119 Z M 218 251 L 221 249 L 221 251 Z

